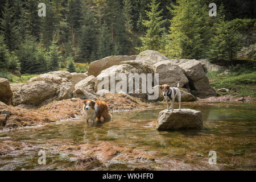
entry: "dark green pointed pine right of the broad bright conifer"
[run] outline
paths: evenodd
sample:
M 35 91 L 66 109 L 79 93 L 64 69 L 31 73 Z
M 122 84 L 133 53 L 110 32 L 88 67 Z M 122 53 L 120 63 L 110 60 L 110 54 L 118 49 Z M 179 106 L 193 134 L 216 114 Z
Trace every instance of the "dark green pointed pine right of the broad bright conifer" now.
M 242 35 L 225 20 L 223 5 L 220 6 L 213 29 L 214 35 L 210 38 L 208 51 L 209 60 L 233 60 L 241 49 Z

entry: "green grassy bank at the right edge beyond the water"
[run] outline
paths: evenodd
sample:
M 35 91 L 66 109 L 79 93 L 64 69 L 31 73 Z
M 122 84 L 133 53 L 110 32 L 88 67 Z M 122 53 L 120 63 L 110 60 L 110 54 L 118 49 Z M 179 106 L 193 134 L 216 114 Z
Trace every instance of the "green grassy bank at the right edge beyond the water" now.
M 256 65 L 249 64 L 243 65 L 243 68 L 235 67 L 230 69 L 230 74 L 220 75 L 218 72 L 208 73 L 207 76 L 210 79 L 210 85 L 216 90 L 221 88 L 227 88 L 229 93 L 237 97 L 250 96 L 256 97 Z

